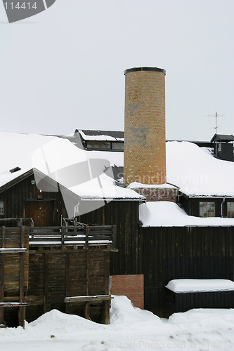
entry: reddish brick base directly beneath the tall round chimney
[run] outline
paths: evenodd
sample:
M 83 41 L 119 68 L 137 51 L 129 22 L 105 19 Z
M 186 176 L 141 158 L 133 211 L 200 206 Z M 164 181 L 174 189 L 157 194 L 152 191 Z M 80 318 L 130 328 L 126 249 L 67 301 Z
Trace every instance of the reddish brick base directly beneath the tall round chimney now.
M 178 189 L 167 187 L 136 187 L 135 192 L 143 195 L 146 201 L 171 201 L 178 202 Z

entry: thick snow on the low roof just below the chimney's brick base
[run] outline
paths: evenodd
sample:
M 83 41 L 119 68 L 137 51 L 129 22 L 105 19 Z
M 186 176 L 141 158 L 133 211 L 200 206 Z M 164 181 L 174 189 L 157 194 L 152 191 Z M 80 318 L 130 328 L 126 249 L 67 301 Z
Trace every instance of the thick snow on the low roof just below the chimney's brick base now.
M 143 227 L 234 225 L 234 218 L 188 216 L 182 208 L 170 201 L 152 201 L 139 207 L 139 219 Z

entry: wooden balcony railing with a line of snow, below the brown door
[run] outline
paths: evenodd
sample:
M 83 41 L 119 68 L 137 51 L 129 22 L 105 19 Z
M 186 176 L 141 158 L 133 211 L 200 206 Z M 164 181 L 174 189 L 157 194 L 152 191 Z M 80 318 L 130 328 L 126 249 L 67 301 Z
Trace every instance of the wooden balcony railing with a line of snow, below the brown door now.
M 30 244 L 112 244 L 116 248 L 116 225 L 67 225 L 61 227 L 30 227 Z

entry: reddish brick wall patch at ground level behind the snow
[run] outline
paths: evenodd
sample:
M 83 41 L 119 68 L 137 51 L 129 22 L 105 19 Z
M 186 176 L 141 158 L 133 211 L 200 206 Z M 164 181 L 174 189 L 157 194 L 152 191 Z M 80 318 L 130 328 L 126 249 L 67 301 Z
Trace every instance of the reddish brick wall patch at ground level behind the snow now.
M 135 307 L 144 308 L 143 274 L 112 275 L 112 295 L 126 296 Z

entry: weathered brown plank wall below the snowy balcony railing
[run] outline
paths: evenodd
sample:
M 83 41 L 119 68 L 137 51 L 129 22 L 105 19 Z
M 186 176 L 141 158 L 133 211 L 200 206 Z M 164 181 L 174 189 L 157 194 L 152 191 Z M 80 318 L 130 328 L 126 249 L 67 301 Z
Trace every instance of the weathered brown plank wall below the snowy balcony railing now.
M 109 322 L 109 301 L 65 303 L 69 296 L 109 294 L 110 253 L 66 248 L 50 250 L 46 246 L 30 249 L 30 274 L 26 310 L 27 322 L 56 308 L 78 314 L 94 322 Z M 89 309 L 89 312 L 88 312 Z

